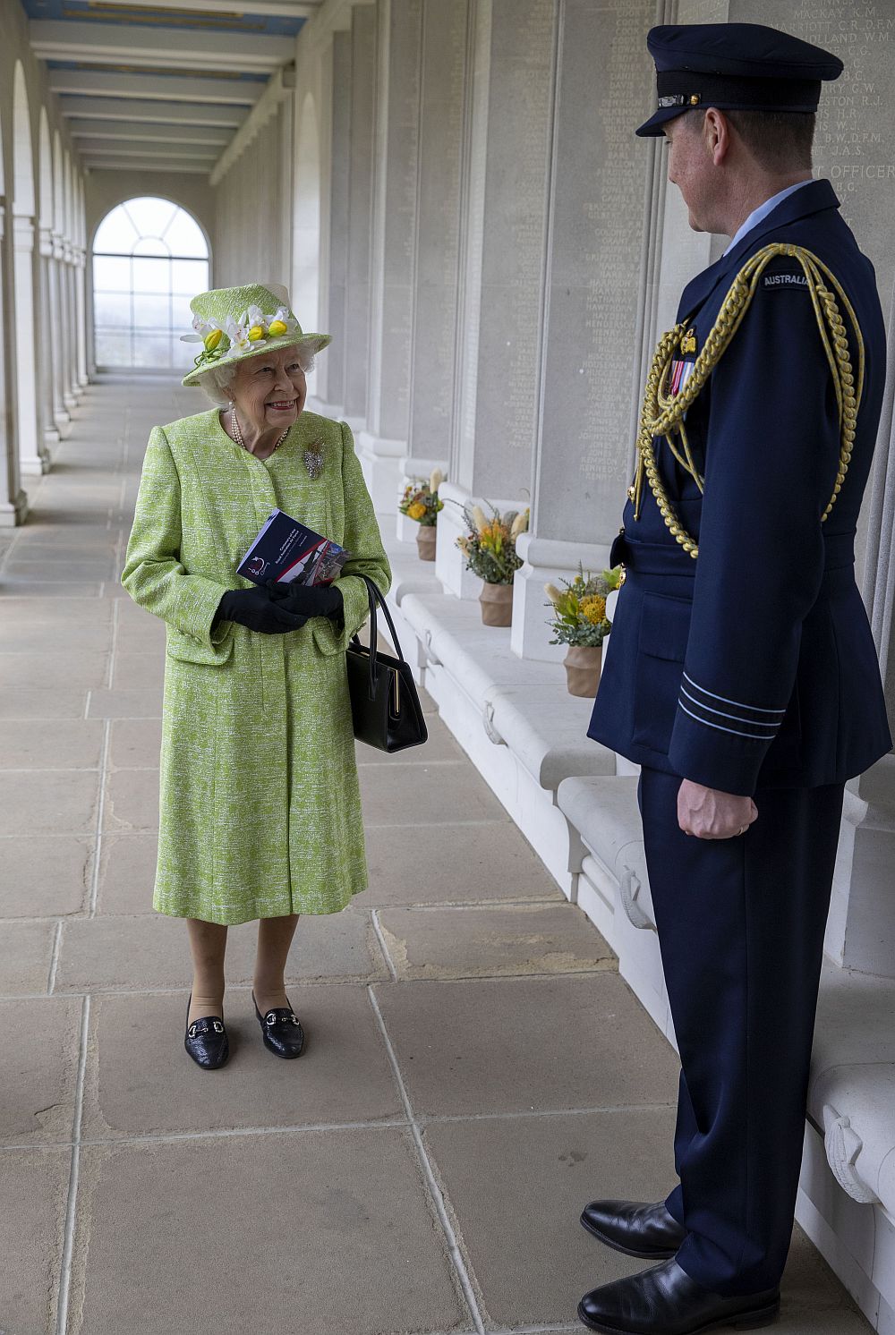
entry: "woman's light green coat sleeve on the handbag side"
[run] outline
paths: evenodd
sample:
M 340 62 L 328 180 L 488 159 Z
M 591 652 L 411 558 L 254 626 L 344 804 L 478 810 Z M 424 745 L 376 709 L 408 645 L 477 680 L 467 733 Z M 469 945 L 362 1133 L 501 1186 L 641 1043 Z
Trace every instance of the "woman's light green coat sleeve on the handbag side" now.
M 335 626 L 326 617 L 311 622 L 314 643 L 325 654 L 345 653 L 351 635 L 367 619 L 367 589 L 361 575 L 367 575 L 386 594 L 391 585 L 391 567 L 382 546 L 379 525 L 370 493 L 366 489 L 361 465 L 354 453 L 354 438 L 347 423 L 342 427 L 342 487 L 345 493 L 345 537 L 342 546 L 351 553 L 337 579 L 342 594 L 342 625 Z

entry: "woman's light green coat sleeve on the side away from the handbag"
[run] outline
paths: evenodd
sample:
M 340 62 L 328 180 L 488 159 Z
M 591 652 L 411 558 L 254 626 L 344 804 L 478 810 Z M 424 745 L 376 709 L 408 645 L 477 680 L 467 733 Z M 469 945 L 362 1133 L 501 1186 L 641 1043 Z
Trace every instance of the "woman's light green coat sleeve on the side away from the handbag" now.
M 226 662 L 232 625 L 211 629 L 226 586 L 184 570 L 180 525 L 180 478 L 164 430 L 156 426 L 143 461 L 122 583 L 140 607 L 190 637 L 195 661 Z

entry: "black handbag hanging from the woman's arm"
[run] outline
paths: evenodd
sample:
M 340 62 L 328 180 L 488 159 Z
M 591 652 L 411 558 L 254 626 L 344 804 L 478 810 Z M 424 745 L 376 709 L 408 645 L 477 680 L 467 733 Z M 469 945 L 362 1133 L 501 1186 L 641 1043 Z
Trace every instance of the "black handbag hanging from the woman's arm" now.
M 405 662 L 385 598 L 373 579 L 367 575 L 362 578 L 370 599 L 370 647 L 353 635 L 345 654 L 354 736 L 359 742 L 385 752 L 421 746 L 429 740 L 429 730 L 410 663 Z M 377 603 L 389 623 L 397 658 L 377 647 Z

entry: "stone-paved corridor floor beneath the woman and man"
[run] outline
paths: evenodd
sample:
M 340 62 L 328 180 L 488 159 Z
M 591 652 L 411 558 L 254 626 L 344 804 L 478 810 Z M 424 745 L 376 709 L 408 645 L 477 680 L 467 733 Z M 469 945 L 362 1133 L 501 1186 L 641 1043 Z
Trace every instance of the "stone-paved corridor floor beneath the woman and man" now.
M 0 538 L 0 1335 L 565 1332 L 637 1268 L 578 1227 L 671 1184 L 676 1060 L 434 713 L 363 752 L 370 889 L 299 925 L 301 1063 L 234 929 L 219 1073 L 151 910 L 163 626 L 123 594 L 168 382 L 92 386 Z M 804 1238 L 781 1335 L 868 1330 Z

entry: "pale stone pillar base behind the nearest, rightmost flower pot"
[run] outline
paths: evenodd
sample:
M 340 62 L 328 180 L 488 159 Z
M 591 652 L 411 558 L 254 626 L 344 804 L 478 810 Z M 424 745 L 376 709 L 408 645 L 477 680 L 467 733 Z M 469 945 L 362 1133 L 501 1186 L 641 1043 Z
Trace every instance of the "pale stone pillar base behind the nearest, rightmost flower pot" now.
M 550 643 L 550 609 L 544 585 L 573 579 L 578 565 L 590 574 L 604 570 L 609 565 L 609 547 L 590 542 L 554 542 L 524 533 L 516 550 L 525 565 L 516 571 L 513 589 L 513 653 L 537 662 L 561 662 L 565 645 Z

